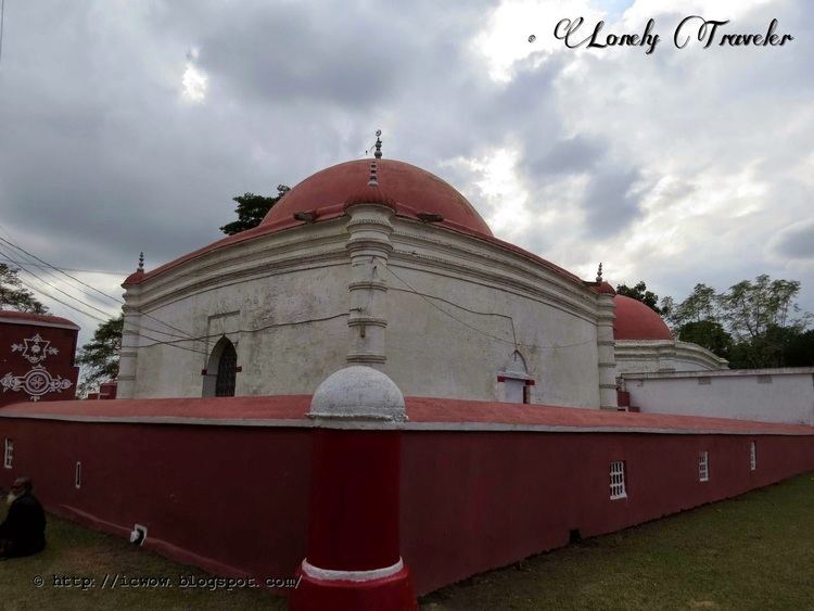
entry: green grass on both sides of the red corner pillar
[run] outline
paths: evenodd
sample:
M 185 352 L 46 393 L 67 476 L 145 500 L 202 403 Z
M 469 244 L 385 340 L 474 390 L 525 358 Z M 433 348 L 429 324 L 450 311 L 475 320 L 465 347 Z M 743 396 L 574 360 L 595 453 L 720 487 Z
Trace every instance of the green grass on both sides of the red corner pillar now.
M 259 589 L 102 589 L 105 573 L 174 584 L 207 575 L 53 517 L 48 540 L 40 555 L 0 562 L 0 609 L 284 609 L 284 599 Z M 96 587 L 56 588 L 54 574 L 93 577 Z M 420 602 L 424 611 L 814 610 L 814 472 L 539 555 Z

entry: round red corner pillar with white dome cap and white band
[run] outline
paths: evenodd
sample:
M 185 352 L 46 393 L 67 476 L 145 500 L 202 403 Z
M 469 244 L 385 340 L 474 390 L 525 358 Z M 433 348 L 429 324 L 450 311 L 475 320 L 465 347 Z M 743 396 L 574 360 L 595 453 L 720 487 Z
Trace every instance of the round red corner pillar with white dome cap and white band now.
M 400 392 L 374 369 L 348 367 L 317 390 L 311 417 L 308 553 L 292 611 L 418 609 L 398 550 Z

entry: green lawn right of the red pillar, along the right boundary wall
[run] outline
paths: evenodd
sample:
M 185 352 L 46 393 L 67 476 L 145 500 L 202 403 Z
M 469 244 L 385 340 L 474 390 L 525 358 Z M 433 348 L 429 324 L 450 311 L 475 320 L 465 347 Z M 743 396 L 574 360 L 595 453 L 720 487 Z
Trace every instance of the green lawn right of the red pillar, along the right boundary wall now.
M 814 609 L 814 472 L 478 575 L 423 611 Z

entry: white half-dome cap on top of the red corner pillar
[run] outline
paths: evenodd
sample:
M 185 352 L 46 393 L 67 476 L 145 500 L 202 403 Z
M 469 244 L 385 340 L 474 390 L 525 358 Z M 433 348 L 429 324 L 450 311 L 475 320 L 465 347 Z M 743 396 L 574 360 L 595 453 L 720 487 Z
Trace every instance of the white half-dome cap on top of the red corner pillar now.
M 407 420 L 404 395 L 395 382 L 372 367 L 359 365 L 329 375 L 314 393 L 308 416 L 330 420 Z

